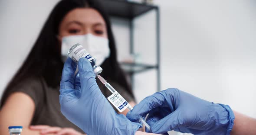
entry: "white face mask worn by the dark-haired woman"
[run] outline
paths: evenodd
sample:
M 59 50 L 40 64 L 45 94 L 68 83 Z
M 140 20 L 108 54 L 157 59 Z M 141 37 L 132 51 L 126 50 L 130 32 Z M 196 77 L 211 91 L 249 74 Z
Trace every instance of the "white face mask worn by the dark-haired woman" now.
M 61 55 L 63 62 L 66 61 L 69 49 L 77 43 L 81 44 L 96 59 L 98 66 L 110 55 L 108 39 L 106 38 L 92 34 L 69 35 L 62 38 Z

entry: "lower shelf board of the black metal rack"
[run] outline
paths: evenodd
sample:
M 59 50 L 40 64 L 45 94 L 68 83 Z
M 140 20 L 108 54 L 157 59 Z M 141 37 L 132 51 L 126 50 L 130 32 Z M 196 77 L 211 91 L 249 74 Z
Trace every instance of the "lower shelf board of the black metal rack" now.
M 144 72 L 150 69 L 156 69 L 158 68 L 158 65 L 151 65 L 151 64 L 142 64 L 142 63 L 125 63 L 121 62 L 122 69 L 125 70 L 128 74 L 135 74 Z

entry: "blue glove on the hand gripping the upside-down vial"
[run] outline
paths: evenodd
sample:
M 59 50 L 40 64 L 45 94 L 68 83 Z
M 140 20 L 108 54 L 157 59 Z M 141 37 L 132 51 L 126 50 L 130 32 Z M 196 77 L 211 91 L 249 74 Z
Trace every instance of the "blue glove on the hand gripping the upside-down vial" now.
M 99 89 L 90 62 L 79 59 L 76 77 L 75 69 L 68 58 L 60 82 L 62 114 L 88 135 L 134 135 L 141 125 L 115 112 Z

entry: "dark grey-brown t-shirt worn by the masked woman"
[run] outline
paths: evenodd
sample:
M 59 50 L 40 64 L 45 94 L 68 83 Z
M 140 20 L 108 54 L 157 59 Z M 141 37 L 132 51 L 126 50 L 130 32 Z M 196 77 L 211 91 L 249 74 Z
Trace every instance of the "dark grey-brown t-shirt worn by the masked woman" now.
M 109 83 L 118 92 L 130 102 L 132 99 L 123 87 L 116 84 L 115 82 L 109 81 Z M 101 89 L 105 97 L 110 96 L 112 93 L 107 90 L 103 84 L 97 80 L 97 84 Z M 27 78 L 9 90 L 4 96 L 9 96 L 13 92 L 23 92 L 30 96 L 35 103 L 35 112 L 31 125 L 50 125 L 58 127 L 69 127 L 73 128 L 79 132 L 83 131 L 79 129 L 72 122 L 69 122 L 65 116 L 62 115 L 60 111 L 59 104 L 59 87 L 52 88 L 48 87 L 43 78 Z M 115 107 L 113 107 L 115 108 Z M 115 109 L 116 110 L 116 109 Z

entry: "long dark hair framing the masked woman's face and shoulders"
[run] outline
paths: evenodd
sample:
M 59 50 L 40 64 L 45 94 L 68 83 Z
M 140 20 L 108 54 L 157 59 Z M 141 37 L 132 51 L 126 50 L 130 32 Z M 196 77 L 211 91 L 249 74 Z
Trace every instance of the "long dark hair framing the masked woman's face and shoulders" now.
M 115 40 L 107 14 L 96 0 L 61 0 L 50 13 L 26 61 L 20 67 L 3 93 L 2 102 L 6 100 L 8 90 L 27 77 L 43 77 L 49 87 L 58 87 L 61 79 L 63 62 L 61 61 L 60 45 L 56 37 L 59 25 L 69 11 L 75 8 L 91 7 L 97 10 L 105 20 L 108 32 L 110 56 L 101 67 L 102 76 L 117 82 L 133 97 L 124 72 L 117 61 Z

